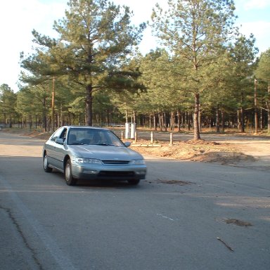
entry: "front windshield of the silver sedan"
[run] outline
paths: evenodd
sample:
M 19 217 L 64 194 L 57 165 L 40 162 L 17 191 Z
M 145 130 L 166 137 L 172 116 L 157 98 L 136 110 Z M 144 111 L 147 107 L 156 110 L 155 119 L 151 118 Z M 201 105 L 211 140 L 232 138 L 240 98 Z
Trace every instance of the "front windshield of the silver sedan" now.
M 69 145 L 124 146 L 112 132 L 105 129 L 71 128 L 68 132 Z

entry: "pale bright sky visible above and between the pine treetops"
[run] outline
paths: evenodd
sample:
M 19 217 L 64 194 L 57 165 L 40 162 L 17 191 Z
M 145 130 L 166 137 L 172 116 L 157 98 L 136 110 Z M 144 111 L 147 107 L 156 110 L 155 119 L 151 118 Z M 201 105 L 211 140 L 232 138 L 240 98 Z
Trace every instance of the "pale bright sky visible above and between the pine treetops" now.
M 132 23 L 150 20 L 156 3 L 165 7 L 167 0 L 110 0 L 115 4 L 129 6 L 134 12 Z M 235 0 L 238 15 L 236 24 L 246 37 L 255 35 L 259 53 L 270 49 L 270 1 Z M 13 91 L 18 91 L 20 75 L 20 52 L 26 55 L 33 51 L 32 30 L 49 37 L 57 37 L 53 31 L 54 20 L 62 19 L 68 8 L 68 0 L 5 0 L 0 1 L 0 85 L 8 84 Z M 158 46 L 152 37 L 150 28 L 143 34 L 139 46 L 141 53 Z

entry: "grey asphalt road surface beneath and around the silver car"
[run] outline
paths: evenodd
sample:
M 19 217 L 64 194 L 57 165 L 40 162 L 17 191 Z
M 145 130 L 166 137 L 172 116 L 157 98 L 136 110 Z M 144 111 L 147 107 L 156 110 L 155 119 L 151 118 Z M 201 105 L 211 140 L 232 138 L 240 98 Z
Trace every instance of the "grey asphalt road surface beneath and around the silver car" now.
M 269 172 L 146 157 L 139 186 L 67 186 L 41 145 L 0 132 L 1 270 L 269 269 Z

